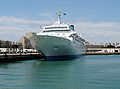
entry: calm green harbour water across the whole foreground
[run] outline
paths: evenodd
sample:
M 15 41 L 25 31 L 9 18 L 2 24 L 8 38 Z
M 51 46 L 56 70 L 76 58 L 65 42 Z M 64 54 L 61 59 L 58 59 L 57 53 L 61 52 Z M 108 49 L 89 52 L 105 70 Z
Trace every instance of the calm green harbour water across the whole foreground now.
M 120 56 L 0 64 L 0 89 L 120 89 Z

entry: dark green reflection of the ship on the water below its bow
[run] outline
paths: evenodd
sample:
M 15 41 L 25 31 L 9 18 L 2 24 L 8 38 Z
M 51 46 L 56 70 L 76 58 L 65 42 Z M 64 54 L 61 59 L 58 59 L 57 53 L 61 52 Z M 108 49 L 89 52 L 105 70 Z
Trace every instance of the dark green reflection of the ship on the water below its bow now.
M 74 80 L 72 76 L 74 77 L 75 65 L 77 62 L 84 62 L 83 59 L 84 57 L 69 61 L 35 61 L 32 63 L 33 69 L 27 83 L 34 88 L 53 89 L 56 87 L 62 89 L 64 86 L 66 89 L 71 89 L 70 83 Z

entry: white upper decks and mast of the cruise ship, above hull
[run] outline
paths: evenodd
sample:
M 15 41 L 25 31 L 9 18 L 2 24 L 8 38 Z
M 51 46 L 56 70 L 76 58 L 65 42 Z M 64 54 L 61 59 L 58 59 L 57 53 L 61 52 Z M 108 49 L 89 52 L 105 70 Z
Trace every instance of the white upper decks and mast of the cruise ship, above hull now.
M 62 37 L 69 40 L 76 40 L 78 42 L 84 41 L 81 37 L 79 37 L 74 30 L 74 25 L 70 24 L 64 24 L 61 22 L 61 12 L 58 11 L 58 21 L 55 22 L 53 25 L 44 26 L 43 31 L 40 33 L 37 33 L 37 35 L 47 35 L 47 36 L 56 36 L 56 37 Z

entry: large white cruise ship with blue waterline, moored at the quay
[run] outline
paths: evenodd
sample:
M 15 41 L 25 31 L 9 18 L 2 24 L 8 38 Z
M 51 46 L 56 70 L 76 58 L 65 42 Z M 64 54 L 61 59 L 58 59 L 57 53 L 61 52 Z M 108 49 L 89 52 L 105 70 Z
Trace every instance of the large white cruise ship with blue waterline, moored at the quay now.
M 61 22 L 61 15 L 65 15 L 64 13 L 59 10 L 56 14 L 57 22 L 44 26 L 42 32 L 33 36 L 32 43 L 48 61 L 80 57 L 86 51 L 85 40 L 77 35 L 74 25 Z

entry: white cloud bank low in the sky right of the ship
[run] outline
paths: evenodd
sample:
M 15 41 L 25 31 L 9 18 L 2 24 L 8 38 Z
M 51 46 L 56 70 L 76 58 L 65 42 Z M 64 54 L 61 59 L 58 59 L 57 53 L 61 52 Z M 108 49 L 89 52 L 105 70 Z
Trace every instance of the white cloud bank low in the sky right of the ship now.
M 120 23 L 76 22 L 75 24 L 77 31 L 89 42 L 120 42 Z

